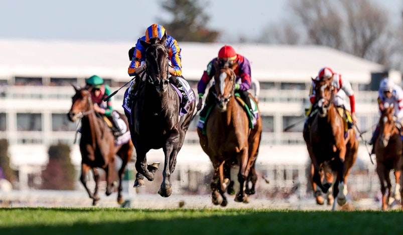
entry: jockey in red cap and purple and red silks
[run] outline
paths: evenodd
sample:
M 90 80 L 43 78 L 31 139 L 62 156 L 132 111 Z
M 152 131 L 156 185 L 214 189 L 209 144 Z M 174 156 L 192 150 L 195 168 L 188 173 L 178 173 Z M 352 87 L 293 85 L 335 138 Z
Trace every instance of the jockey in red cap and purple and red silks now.
M 251 83 L 251 75 L 250 75 L 250 64 L 249 60 L 243 55 L 237 54 L 235 49 L 230 45 L 224 45 L 218 51 L 218 57 L 213 58 L 208 64 L 207 69 L 203 72 L 203 75 L 199 82 L 197 83 L 197 91 L 199 93 L 199 102 L 197 103 L 197 110 L 201 109 L 202 99 L 204 92 L 206 90 L 207 84 L 213 78 L 215 74 L 214 62 L 216 60 L 225 60 L 231 63 L 236 61 L 238 63 L 237 67 L 234 69 L 234 72 L 237 76 L 237 83 L 235 84 L 235 92 L 239 93 L 240 97 L 245 101 L 251 113 L 253 110 L 251 109 L 250 99 L 248 98 L 248 90 L 250 89 Z M 212 86 L 209 90 L 209 93 L 206 98 L 206 103 L 204 105 L 203 110 L 200 112 L 201 116 L 206 115 L 208 107 L 214 102 L 214 96 L 211 90 L 214 87 Z M 257 93 L 258 91 L 256 91 Z M 252 118 L 254 116 L 252 115 Z

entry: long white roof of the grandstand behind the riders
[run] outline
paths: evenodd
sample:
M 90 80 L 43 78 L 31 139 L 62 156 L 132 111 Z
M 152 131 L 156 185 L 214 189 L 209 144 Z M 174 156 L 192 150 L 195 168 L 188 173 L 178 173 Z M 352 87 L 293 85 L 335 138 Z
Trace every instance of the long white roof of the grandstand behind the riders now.
M 98 74 L 129 79 L 128 49 L 135 41 L 68 41 L 0 39 L 0 78 L 13 76 L 88 77 Z M 198 80 L 223 43 L 179 42 L 183 75 Z M 317 45 L 231 44 L 249 59 L 260 81 L 306 82 L 324 66 L 350 81 L 369 83 L 371 72 L 385 67 L 339 50 Z M 353 79 L 353 80 L 352 80 Z

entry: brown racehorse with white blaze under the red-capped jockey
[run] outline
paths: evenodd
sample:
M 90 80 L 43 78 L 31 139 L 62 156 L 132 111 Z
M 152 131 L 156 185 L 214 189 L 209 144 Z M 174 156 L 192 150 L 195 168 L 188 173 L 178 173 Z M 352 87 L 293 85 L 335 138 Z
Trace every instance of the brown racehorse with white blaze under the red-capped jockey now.
M 211 109 L 205 123 L 206 134 L 197 128 L 200 145 L 210 157 L 214 175 L 211 181 L 212 202 L 226 206 L 226 189 L 232 194 L 233 182 L 227 188 L 224 178 L 230 178 L 230 167 L 238 165 L 239 191 L 237 202 L 248 202 L 248 194 L 254 193 L 257 175 L 254 169 L 261 137 L 261 117 L 258 116 L 254 128 L 249 127 L 248 116 L 235 98 L 236 63 L 214 64 L 215 106 Z M 211 92 L 211 91 L 210 91 Z M 250 97 L 252 97 L 249 94 Z M 259 114 L 260 115 L 260 114 Z M 249 187 L 249 183 L 251 186 Z M 234 191 L 233 191 L 234 192 Z

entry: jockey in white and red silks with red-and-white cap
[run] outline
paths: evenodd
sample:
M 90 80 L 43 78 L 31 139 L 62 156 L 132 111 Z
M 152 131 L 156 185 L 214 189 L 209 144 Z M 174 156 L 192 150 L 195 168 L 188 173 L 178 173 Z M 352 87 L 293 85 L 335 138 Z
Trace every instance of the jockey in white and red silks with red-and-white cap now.
M 344 109 L 344 114 L 346 115 L 346 121 L 347 121 L 347 126 L 348 128 L 352 128 L 353 125 L 357 124 L 357 117 L 355 116 L 355 98 L 354 98 L 354 91 L 351 88 L 351 83 L 342 78 L 341 74 L 333 72 L 333 70 L 329 67 L 324 67 L 319 70 L 318 76 L 315 77 L 315 80 L 321 80 L 324 78 L 332 78 L 332 85 L 335 88 L 336 95 L 333 99 L 333 103 L 337 107 L 342 107 Z M 344 92 L 340 92 L 340 90 L 343 90 Z M 350 99 L 350 107 L 351 107 L 351 119 L 348 111 L 345 109 L 345 94 L 348 95 Z M 309 100 L 311 101 L 311 107 L 309 110 L 307 110 L 307 119 L 305 120 L 305 125 L 304 128 L 308 128 L 310 122 L 312 121 L 313 115 L 313 109 L 312 106 L 315 105 L 315 82 L 312 81 L 311 83 L 311 88 L 310 88 L 310 94 L 309 94 Z M 352 122 L 351 122 L 352 121 Z

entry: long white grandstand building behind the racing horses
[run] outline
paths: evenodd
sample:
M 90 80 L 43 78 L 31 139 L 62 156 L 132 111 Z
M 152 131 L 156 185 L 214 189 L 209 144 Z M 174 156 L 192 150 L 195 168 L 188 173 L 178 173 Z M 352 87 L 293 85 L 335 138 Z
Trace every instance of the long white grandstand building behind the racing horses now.
M 48 159 L 50 144 L 71 144 L 72 160 L 80 164 L 78 145 L 73 145 L 76 124 L 67 120 L 74 89 L 70 82 L 83 85 L 85 78 L 97 74 L 115 90 L 131 78 L 127 75 L 128 49 L 135 41 L 62 41 L 0 39 L 0 138 L 7 138 L 13 166 L 19 169 L 20 187 L 28 186 L 28 173 L 40 170 Z M 217 55 L 221 43 L 182 42 L 183 75 L 196 90 L 207 63 Z M 369 140 L 378 118 L 376 98 L 380 75 L 385 67 L 324 46 L 232 44 L 251 63 L 252 77 L 260 81 L 259 107 L 263 134 L 258 167 L 281 169 L 279 180 L 292 180 L 293 169 L 302 169 L 308 161 L 302 138 L 304 108 L 309 105 L 311 77 L 324 66 L 331 67 L 348 79 L 355 90 L 356 115 L 363 136 Z M 389 71 L 396 83 L 401 74 Z M 371 91 L 372 90 L 372 91 Z M 114 106 L 121 108 L 124 89 L 114 96 Z M 299 122 L 300 121 L 300 122 Z M 284 132 L 290 124 L 299 122 Z M 178 154 L 178 169 L 210 169 L 208 156 L 202 151 L 196 133 L 197 118 L 191 123 L 186 142 Z M 364 144 L 358 152 L 359 162 L 368 164 Z M 151 151 L 161 161 L 162 150 Z M 285 167 L 285 166 L 290 167 Z M 279 172 L 278 170 L 276 171 Z M 183 173 L 180 173 L 183 174 Z M 270 173 L 267 173 L 270 174 Z M 300 173 L 300 176 L 303 175 Z M 276 178 L 277 176 L 273 176 Z M 279 176 L 280 177 L 280 176 Z

